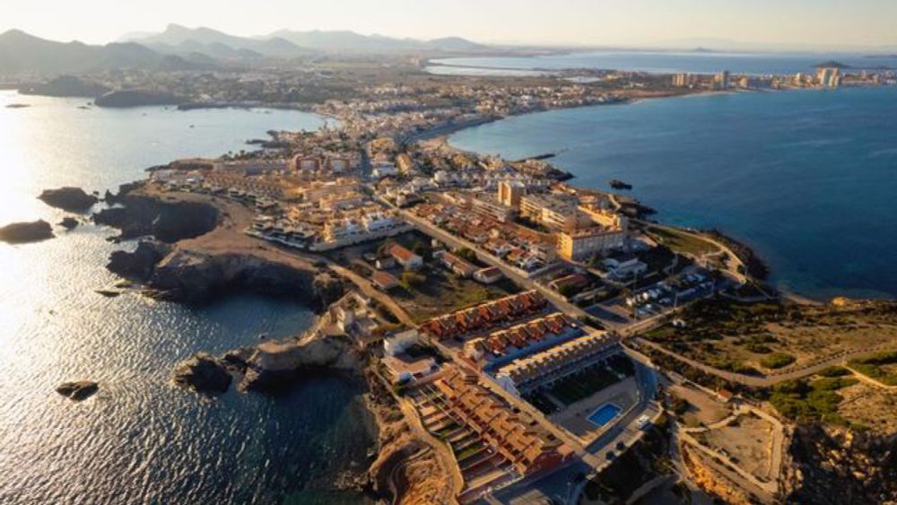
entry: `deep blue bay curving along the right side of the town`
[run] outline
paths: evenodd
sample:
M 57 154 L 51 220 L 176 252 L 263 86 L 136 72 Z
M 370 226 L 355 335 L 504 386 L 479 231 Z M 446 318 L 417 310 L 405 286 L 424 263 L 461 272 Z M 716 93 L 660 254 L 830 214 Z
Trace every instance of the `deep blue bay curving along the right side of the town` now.
M 664 222 L 755 248 L 779 287 L 818 299 L 897 296 L 897 89 L 644 100 L 505 118 L 450 143 L 544 152 L 584 187 L 611 178 Z

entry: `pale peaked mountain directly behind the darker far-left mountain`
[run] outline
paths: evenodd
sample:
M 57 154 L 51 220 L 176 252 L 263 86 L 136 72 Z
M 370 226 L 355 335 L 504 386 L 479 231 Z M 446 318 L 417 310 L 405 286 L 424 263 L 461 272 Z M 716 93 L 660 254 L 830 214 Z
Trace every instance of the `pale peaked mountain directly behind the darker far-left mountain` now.
M 162 53 L 195 52 L 216 59 L 253 59 L 257 57 L 302 57 L 311 51 L 287 39 L 269 37 L 250 39 L 211 28 L 187 28 L 170 24 L 161 33 L 143 35 L 131 41 Z

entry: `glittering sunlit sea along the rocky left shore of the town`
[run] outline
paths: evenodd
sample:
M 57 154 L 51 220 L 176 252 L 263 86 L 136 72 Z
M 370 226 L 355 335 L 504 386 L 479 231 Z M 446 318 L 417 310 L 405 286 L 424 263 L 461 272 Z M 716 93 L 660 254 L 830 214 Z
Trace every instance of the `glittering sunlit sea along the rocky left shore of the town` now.
M 15 102 L 31 107 L 4 107 Z M 101 192 L 154 164 L 322 124 L 295 111 L 82 104 L 0 92 L 0 223 L 58 222 L 64 214 L 36 199 L 45 187 Z M 0 244 L 0 503 L 363 501 L 329 485 L 367 464 L 361 384 L 322 375 L 278 397 L 231 391 L 204 400 L 169 382 L 172 366 L 197 351 L 300 333 L 309 309 L 253 295 L 201 309 L 104 298 L 94 290 L 115 282 L 104 268 L 112 234 L 88 225 Z M 57 395 L 72 379 L 97 380 L 100 392 L 80 404 Z

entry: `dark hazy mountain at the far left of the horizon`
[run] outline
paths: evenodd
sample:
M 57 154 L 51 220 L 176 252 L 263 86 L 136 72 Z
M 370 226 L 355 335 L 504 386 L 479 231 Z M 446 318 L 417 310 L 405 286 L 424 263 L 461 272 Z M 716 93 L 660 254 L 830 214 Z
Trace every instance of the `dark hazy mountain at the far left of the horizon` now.
M 135 43 L 89 46 L 82 42 L 55 42 L 22 30 L 0 34 L 0 74 L 81 74 L 118 68 L 190 68 L 184 58 L 164 57 Z

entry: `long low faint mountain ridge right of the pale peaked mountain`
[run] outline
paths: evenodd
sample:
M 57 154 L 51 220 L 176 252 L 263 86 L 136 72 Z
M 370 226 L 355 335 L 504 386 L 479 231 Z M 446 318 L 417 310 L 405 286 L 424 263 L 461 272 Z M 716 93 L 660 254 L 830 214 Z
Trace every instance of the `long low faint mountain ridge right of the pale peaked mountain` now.
M 279 30 L 272 33 L 269 37 L 287 39 L 303 48 L 359 53 L 403 51 L 473 52 L 487 48 L 482 44 L 460 37 L 432 40 L 395 39 L 383 35 L 361 35 L 361 33 L 347 30 Z

